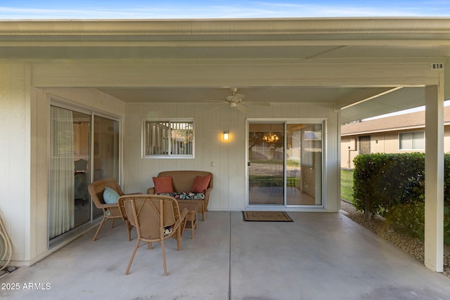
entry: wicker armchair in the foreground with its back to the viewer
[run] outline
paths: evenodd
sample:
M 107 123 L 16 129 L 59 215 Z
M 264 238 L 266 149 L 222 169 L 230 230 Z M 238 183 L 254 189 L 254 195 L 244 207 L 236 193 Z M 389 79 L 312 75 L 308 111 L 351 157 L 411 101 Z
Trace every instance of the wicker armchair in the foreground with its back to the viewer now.
M 186 225 L 188 209 L 180 213 L 178 202 L 173 197 L 162 195 L 127 195 L 119 198 L 132 226 L 136 227 L 138 239 L 125 274 L 129 274 L 131 263 L 139 247 L 152 242 L 160 242 L 164 275 L 167 276 L 165 240 L 176 239 L 176 249 L 181 250 L 181 236 Z M 133 216 L 133 217 L 131 217 Z

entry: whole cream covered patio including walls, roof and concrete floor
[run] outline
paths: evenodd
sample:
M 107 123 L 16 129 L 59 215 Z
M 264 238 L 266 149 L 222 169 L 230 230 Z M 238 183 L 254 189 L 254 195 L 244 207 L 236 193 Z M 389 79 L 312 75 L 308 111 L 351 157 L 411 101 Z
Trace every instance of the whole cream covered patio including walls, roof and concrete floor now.
M 12 261 L 24 266 L 7 280 L 51 284 L 45 291 L 2 294 L 336 299 L 342 293 L 341 299 L 388 299 L 405 292 L 449 298 L 448 278 L 432 271 L 442 272 L 442 115 L 450 95 L 444 81 L 450 74 L 444 68 L 450 19 L 4 20 L 1 25 L 0 214 L 13 243 Z M 223 103 L 230 88 L 245 95 L 246 112 Z M 426 105 L 430 154 L 424 261 L 430 270 L 338 213 L 340 125 L 420 105 Z M 76 230 L 71 224 L 63 230 L 63 242 L 49 242 L 55 237 L 49 230 L 51 159 L 66 154 L 51 144 L 51 107 L 87 115 L 94 128 L 96 118 L 117 125 L 104 127 L 104 136 L 120 129 L 111 138 L 117 151 L 96 143 L 89 131 L 94 139 L 86 159 L 96 171 L 96 157 L 114 154 L 125 193 L 146 191 L 160 171 L 214 174 L 211 215 L 200 222 L 195 240 L 186 235 L 182 252 L 167 247 L 168 278 L 162 276 L 158 249 L 151 259 L 140 251 L 124 276 L 132 242 L 121 228 L 103 230 L 101 239 L 91 242 L 94 232 L 84 230 L 97 221 L 93 214 Z M 144 157 L 146 119 L 195 122 L 195 156 Z M 314 160 L 320 186 L 311 185 L 319 187 L 319 203 L 269 207 L 287 210 L 294 223 L 242 221 L 240 211 L 261 209 L 248 201 L 250 122 L 323 126 L 323 155 Z M 224 132 L 229 141 L 220 138 Z

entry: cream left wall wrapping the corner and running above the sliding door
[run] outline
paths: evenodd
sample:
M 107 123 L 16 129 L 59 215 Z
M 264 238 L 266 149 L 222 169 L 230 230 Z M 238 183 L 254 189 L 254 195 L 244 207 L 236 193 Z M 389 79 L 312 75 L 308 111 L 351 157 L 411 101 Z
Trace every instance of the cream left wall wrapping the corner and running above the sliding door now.
M 0 216 L 13 244 L 11 264 L 29 265 L 47 249 L 50 97 L 124 117 L 122 101 L 96 89 L 35 89 L 30 67 L 0 66 Z

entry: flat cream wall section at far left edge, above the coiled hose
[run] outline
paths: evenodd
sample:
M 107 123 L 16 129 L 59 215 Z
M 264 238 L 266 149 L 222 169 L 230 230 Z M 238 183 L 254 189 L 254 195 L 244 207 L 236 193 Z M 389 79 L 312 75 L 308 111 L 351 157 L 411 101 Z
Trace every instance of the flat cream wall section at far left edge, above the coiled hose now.
M 0 216 L 12 259 L 30 257 L 30 70 L 0 65 Z

